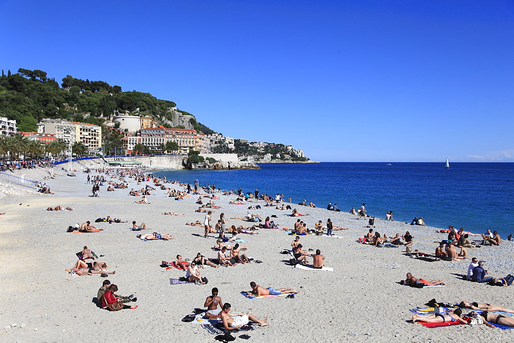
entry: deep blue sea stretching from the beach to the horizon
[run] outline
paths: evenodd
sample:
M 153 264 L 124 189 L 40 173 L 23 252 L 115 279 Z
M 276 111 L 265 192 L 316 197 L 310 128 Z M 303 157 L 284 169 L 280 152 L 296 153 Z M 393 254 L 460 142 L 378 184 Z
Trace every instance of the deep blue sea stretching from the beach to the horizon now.
M 293 203 L 312 200 L 318 207 L 337 203 L 341 211 L 366 204 L 368 214 L 427 225 L 464 227 L 502 238 L 514 233 L 514 163 L 393 163 L 324 162 L 260 164 L 248 170 L 166 170 L 167 179 L 243 192 L 284 194 Z M 287 200 L 286 200 L 287 201 Z

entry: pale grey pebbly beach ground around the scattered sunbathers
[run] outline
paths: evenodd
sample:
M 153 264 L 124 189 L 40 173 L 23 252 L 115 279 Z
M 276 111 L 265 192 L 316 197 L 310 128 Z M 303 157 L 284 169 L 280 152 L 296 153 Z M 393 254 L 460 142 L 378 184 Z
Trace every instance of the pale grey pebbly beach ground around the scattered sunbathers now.
M 57 174 L 57 173 L 56 173 Z M 60 173 L 62 174 L 62 173 Z M 259 235 L 241 234 L 246 240 L 245 252 L 263 263 L 238 264 L 229 268 L 206 266 L 202 276 L 209 279 L 206 285 L 170 284 L 170 278 L 185 276 L 177 269 L 160 267 L 161 261 L 174 261 L 177 254 L 192 259 L 197 252 L 215 258 L 211 250 L 215 238 L 204 238 L 203 228 L 185 225 L 203 220 L 205 214 L 195 213 L 198 196 L 191 195 L 175 201 L 155 190 L 148 196 L 148 205 L 133 204 L 138 197 L 127 196 L 131 187 L 139 189 L 132 179 L 129 189 L 106 192 L 107 184 L 100 188 L 99 197 L 90 197 L 91 185 L 86 184 L 87 174 L 77 177 L 58 176 L 45 180 L 54 195 L 6 196 L 0 199 L 0 278 L 3 294 L 0 298 L 0 340 L 3 341 L 213 341 L 200 325 L 182 322 L 181 319 L 195 308 L 203 308 L 211 288 L 219 289 L 223 302 L 232 304 L 231 312 L 251 312 L 258 318 L 269 318 L 269 326 L 249 332 L 253 341 L 466 341 L 477 337 L 490 340 L 512 340 L 511 330 L 460 325 L 429 329 L 409 323 L 409 309 L 424 307 L 435 298 L 439 302 L 476 301 L 514 307 L 512 289 L 492 287 L 465 281 L 469 264 L 466 261 L 426 262 L 409 258 L 405 248 L 377 248 L 359 244 L 356 240 L 369 230 L 367 220 L 347 212 L 331 212 L 324 208 L 292 205 L 303 217 L 287 216 L 291 211 L 274 207 L 252 209 L 261 217 L 272 218 L 281 228 L 292 228 L 298 218 L 313 228 L 314 223 L 331 218 L 337 226 L 348 230 L 335 231 L 342 238 L 309 235 L 301 238 L 304 249 L 320 249 L 325 265 L 333 272 L 293 269 L 286 263 L 294 236 L 283 230 L 261 228 Z M 99 175 L 91 173 L 91 176 Z M 27 173 L 29 178 L 30 173 Z M 40 174 L 39 177 L 42 177 Z M 111 180 L 107 177 L 108 180 Z M 182 181 L 182 180 L 180 180 Z M 201 184 L 216 180 L 200 180 Z M 182 190 L 178 185 L 167 187 Z M 255 185 L 259 187 L 259 185 Z M 245 189 L 247 192 L 249 189 Z M 285 195 L 287 198 L 287 195 Z M 307 196 L 307 195 L 306 195 Z M 243 217 L 248 206 L 232 205 L 236 196 L 219 195 L 211 224 L 225 213 L 226 218 Z M 261 201 L 261 205 L 264 203 Z M 74 211 L 48 212 L 49 206 L 71 206 Z M 326 206 L 326 204 L 317 204 Z M 355 204 L 356 208 L 360 204 Z M 163 212 L 185 213 L 183 216 L 162 215 Z M 346 209 L 342 209 L 346 211 Z M 380 214 L 372 214 L 380 215 Z M 384 214 L 383 214 L 384 215 Z M 128 223 L 94 223 L 99 217 L 115 217 Z M 85 221 L 105 228 L 101 233 L 66 233 L 66 228 Z M 147 232 L 170 233 L 175 238 L 168 241 L 141 241 L 138 232 L 131 231 L 132 221 L 145 222 Z M 249 226 L 240 219 L 228 219 L 229 225 Z M 451 223 L 448 223 L 451 224 Z M 403 222 L 376 219 L 374 230 L 388 236 L 410 231 L 414 236 L 413 250 L 433 254 L 435 241 L 446 239 L 446 234 L 436 233 L 440 228 L 416 226 Z M 486 228 L 484 228 L 485 232 Z M 479 232 L 482 233 L 482 232 Z M 215 234 L 211 234 L 214 237 Z M 470 237 L 473 238 L 473 237 Z M 468 249 L 469 257 L 485 260 L 486 269 L 495 277 L 512 272 L 514 259 L 512 247 L 506 237 L 497 247 Z M 108 265 L 116 270 L 107 279 L 118 285 L 118 294 L 134 294 L 138 298 L 135 310 L 109 312 L 96 306 L 97 291 L 102 285 L 98 275 L 72 277 L 65 269 L 77 261 L 75 253 L 87 245 Z M 90 261 L 90 260 L 89 260 Z M 311 261 L 311 259 L 309 259 Z M 443 280 L 446 287 L 416 289 L 400 285 L 411 272 L 417 278 Z M 248 299 L 240 294 L 249 291 L 250 281 L 273 288 L 294 288 L 300 293 L 294 299 L 286 297 Z M 14 325 L 12 327 L 11 325 Z M 23 324 L 23 327 L 22 327 Z

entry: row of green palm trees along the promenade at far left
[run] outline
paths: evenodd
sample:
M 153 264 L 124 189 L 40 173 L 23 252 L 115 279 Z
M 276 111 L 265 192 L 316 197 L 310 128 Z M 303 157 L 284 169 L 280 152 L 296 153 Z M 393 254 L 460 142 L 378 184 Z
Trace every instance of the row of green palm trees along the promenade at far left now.
M 87 146 L 81 142 L 75 142 L 71 151 L 79 157 L 87 153 Z M 0 137 L 0 154 L 5 159 L 19 159 L 21 156 L 39 158 L 40 156 L 65 156 L 68 153 L 68 143 L 63 139 L 57 139 L 51 143 L 41 143 L 38 140 L 31 140 L 22 134 L 10 137 Z

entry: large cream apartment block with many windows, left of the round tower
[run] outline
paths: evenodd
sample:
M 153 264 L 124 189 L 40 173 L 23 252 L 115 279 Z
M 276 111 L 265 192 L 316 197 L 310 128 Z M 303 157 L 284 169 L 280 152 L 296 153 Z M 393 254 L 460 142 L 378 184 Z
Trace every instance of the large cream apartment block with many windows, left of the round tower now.
M 50 120 L 38 124 L 38 133 L 55 135 L 66 142 L 81 142 L 89 154 L 98 153 L 102 146 L 102 127 L 94 124 Z

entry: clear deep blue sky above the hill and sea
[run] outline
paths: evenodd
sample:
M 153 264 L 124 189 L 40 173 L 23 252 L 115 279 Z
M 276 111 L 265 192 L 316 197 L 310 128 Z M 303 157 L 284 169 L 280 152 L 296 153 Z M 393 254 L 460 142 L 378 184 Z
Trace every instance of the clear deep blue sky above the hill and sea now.
M 513 1 L 0 0 L 0 44 L 318 161 L 514 161 Z

